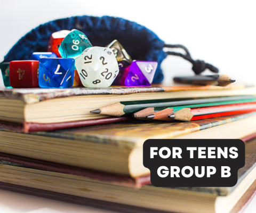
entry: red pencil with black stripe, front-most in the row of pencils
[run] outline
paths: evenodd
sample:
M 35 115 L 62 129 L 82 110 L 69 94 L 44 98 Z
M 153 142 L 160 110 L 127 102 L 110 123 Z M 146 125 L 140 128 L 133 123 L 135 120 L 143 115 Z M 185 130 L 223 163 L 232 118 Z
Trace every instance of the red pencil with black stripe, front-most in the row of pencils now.
M 193 121 L 233 114 L 242 114 L 256 111 L 256 102 L 228 104 L 221 106 L 205 106 L 202 108 L 183 108 L 169 115 L 169 118 L 180 121 Z

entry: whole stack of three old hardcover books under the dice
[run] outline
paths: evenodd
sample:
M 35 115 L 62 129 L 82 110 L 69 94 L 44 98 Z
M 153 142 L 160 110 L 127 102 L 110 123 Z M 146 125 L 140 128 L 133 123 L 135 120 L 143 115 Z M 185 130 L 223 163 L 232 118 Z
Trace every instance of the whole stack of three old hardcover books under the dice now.
M 256 113 L 148 122 L 90 113 L 120 101 L 256 95 L 255 86 L 0 90 L 0 189 L 124 212 L 237 212 L 256 189 Z M 153 138 L 239 138 L 234 187 L 154 187 L 143 167 Z

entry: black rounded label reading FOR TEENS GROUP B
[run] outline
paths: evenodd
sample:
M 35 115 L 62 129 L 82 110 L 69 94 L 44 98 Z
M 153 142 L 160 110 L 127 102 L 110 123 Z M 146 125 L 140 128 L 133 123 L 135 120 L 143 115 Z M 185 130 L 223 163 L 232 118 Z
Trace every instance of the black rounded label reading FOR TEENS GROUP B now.
M 143 144 L 143 165 L 161 187 L 231 187 L 245 164 L 238 139 L 152 139 Z

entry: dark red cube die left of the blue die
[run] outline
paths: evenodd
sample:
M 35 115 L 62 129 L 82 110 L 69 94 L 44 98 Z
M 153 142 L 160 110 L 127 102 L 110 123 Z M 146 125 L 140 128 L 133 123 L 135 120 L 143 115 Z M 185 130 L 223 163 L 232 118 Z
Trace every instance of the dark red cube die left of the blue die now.
M 10 84 L 14 88 L 38 86 L 38 61 L 11 61 Z

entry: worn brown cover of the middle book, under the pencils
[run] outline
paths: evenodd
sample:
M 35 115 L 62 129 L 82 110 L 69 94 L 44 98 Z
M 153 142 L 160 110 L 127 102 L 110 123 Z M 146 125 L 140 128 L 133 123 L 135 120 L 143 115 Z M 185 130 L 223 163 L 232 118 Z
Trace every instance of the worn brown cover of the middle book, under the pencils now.
M 95 143 L 126 145 L 130 148 L 142 146 L 147 139 L 174 138 L 200 130 L 228 124 L 255 116 L 256 113 L 239 114 L 190 122 L 120 122 L 110 125 L 61 129 L 53 132 L 36 132 L 33 135 L 66 138 Z M 256 132 L 256 129 L 255 129 Z

